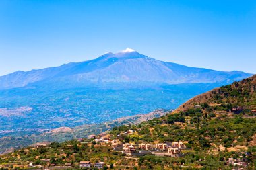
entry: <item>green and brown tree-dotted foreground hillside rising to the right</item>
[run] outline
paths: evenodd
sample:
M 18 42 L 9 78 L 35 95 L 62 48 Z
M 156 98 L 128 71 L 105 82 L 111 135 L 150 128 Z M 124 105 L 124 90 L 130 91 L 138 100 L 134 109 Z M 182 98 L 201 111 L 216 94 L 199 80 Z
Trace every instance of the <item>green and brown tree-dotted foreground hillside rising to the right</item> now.
M 79 169 L 79 161 L 104 161 L 112 169 L 255 169 L 255 93 L 253 76 L 199 95 L 173 114 L 137 126 L 115 127 L 108 137 L 101 139 L 96 136 L 96 141 L 92 138 L 86 142 L 70 141 L 53 143 L 45 148 L 26 148 L 1 156 L 0 162 L 2 166 L 18 167 L 28 165 L 27 161 L 44 166 L 53 163 L 53 168 L 71 163 L 74 169 Z M 134 144 L 137 155 L 141 151 L 144 156 L 132 156 L 124 153 L 125 150 L 117 152 L 110 143 L 99 142 L 106 138 Z M 174 142 L 185 144 L 182 154 L 177 157 L 166 156 L 168 153 L 164 149 L 143 151 L 138 145 L 166 144 L 171 149 L 170 144 Z M 123 149 L 125 147 L 123 145 Z M 49 159 L 49 162 L 43 159 Z

